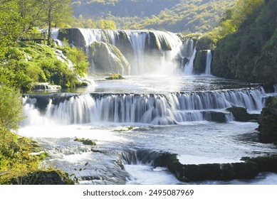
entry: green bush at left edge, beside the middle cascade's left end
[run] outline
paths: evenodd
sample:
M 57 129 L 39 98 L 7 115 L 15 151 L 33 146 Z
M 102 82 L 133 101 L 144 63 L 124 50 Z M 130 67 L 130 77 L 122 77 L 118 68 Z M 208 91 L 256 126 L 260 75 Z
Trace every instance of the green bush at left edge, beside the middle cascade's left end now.
M 0 127 L 18 129 L 22 117 L 22 100 L 18 90 L 0 85 Z

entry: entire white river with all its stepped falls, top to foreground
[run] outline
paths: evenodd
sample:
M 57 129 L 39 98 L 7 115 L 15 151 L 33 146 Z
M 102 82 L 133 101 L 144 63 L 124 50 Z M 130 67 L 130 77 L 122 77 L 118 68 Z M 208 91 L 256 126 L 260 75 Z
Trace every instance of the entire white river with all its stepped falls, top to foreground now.
M 226 110 L 245 107 L 257 114 L 275 93 L 212 76 L 209 49 L 204 70 L 196 75 L 193 39 L 182 41 L 162 31 L 82 28 L 55 30 L 52 36 L 60 45 L 66 38 L 83 48 L 91 72 L 126 75 L 125 80 L 110 81 L 92 77 L 95 85 L 85 91 L 23 95 L 27 117 L 19 134 L 38 140 L 51 155 L 46 162 L 74 173 L 80 183 L 183 183 L 166 168 L 154 166 L 151 154 L 160 151 L 185 157 L 188 163 L 193 158 L 222 163 L 275 154 L 275 146 L 255 141 L 256 122 L 236 122 Z M 75 137 L 93 139 L 96 146 L 83 146 Z M 88 168 L 80 170 L 86 163 Z M 274 179 L 273 173 L 261 175 L 265 181 Z M 159 180 L 147 181 L 148 176 Z

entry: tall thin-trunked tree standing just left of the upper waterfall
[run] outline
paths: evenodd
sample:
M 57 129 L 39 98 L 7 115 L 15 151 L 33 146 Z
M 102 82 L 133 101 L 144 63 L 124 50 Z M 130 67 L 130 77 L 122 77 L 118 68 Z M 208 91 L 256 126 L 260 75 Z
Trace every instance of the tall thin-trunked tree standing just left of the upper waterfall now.
M 70 0 L 43 0 L 48 26 L 47 44 L 51 44 L 51 28 L 62 23 L 73 22 L 73 9 Z

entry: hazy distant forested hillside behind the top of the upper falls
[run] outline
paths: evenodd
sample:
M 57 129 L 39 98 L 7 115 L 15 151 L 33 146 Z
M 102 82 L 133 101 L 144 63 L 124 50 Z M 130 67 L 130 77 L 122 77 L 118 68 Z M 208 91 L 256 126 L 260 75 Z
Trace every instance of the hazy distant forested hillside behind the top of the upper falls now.
M 73 10 L 75 25 L 85 28 L 101 27 L 97 23 L 105 20 L 117 29 L 204 33 L 218 26 L 233 5 L 234 0 L 95 0 L 73 1 Z

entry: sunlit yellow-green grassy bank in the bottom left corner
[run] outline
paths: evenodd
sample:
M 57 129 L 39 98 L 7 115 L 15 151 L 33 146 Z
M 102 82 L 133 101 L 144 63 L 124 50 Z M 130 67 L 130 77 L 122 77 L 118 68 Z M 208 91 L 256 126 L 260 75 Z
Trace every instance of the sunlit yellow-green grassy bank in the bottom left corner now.
M 46 176 L 51 174 L 51 182 L 55 183 L 59 178 L 64 183 L 72 184 L 67 173 L 53 168 L 41 168 L 40 163 L 48 154 L 41 152 L 40 147 L 31 139 L 18 136 L 4 127 L 0 127 L 0 185 L 7 185 L 28 179 L 24 184 L 43 184 L 49 178 L 40 178 L 34 181 L 33 176 Z M 31 176 L 31 177 L 30 177 Z M 58 177 L 59 176 L 59 177 Z M 20 184 L 20 183 L 19 183 Z

